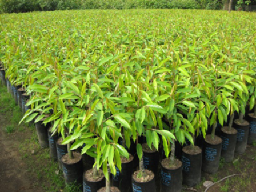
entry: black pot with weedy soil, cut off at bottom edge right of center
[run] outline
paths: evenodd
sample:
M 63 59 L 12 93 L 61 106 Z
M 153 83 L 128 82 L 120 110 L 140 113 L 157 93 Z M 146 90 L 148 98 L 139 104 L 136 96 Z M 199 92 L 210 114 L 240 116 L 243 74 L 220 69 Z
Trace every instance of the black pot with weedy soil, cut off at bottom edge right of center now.
M 145 170 L 146 177 L 142 177 L 140 170 L 135 171 L 132 176 L 133 191 L 140 192 L 157 192 L 157 186 L 155 185 L 155 175 L 153 171 Z

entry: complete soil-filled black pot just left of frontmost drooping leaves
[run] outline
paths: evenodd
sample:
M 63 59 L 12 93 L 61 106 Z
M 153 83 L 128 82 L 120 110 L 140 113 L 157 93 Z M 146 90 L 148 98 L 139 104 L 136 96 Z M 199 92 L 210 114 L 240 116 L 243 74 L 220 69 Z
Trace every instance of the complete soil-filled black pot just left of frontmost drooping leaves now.
M 67 184 L 81 185 L 83 177 L 82 155 L 77 152 L 72 153 L 73 159 L 69 158 L 69 154 L 65 154 L 61 158 L 64 179 Z

